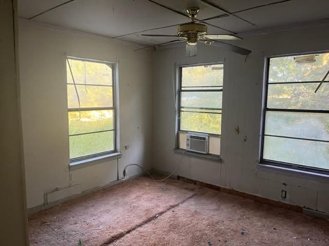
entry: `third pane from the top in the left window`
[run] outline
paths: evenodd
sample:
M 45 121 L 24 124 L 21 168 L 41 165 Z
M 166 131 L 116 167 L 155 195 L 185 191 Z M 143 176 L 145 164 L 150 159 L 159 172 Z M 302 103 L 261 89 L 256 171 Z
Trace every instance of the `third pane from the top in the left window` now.
M 81 111 L 80 113 L 68 112 L 70 135 L 114 129 L 113 110 Z

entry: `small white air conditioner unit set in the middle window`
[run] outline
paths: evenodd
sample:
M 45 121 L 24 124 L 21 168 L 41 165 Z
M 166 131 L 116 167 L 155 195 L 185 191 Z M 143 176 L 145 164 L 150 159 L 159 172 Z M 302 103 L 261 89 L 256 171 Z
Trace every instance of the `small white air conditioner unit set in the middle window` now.
M 186 150 L 208 154 L 209 135 L 202 133 L 186 134 Z

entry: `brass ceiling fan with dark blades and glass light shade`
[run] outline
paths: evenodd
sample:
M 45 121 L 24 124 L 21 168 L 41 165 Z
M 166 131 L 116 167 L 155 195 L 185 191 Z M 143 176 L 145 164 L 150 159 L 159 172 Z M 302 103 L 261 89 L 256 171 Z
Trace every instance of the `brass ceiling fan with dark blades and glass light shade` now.
M 141 34 L 142 36 L 152 36 L 152 37 L 179 37 L 180 39 L 175 39 L 165 44 L 181 43 L 186 42 L 186 56 L 195 56 L 197 54 L 197 43 L 202 43 L 206 45 L 212 45 L 213 43 L 218 43 L 226 49 L 239 53 L 242 55 L 248 55 L 251 50 L 241 48 L 239 46 L 227 44 L 218 40 L 238 40 L 241 37 L 231 35 L 231 34 L 207 34 L 208 28 L 202 23 L 195 22 L 195 17 L 199 12 L 199 8 L 192 7 L 186 10 L 191 22 L 181 24 L 178 26 L 177 35 L 165 35 L 165 34 Z

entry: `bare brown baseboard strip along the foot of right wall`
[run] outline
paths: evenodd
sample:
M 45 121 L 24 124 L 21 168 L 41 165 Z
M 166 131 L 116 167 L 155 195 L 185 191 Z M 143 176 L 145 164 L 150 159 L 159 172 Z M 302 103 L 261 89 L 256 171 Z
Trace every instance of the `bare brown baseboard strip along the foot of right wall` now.
M 177 179 L 180 179 L 180 180 L 183 180 L 183 181 L 189 180 L 189 182 L 191 182 L 191 180 L 192 180 L 190 178 L 182 177 L 182 176 L 179 176 L 179 175 L 177 175 Z M 272 206 L 276 206 L 276 207 L 280 207 L 280 208 L 284 208 L 284 209 L 293 210 L 293 211 L 298 212 L 298 213 L 303 213 L 303 208 L 300 207 L 300 206 L 297 206 L 297 205 L 292 205 L 292 204 L 284 203 L 284 202 L 281 202 L 281 201 L 271 200 L 271 199 L 268 199 L 268 198 L 265 198 L 265 197 L 251 195 L 251 194 L 244 193 L 244 192 L 241 192 L 241 191 L 236 191 L 236 190 L 233 190 L 233 189 L 228 189 L 228 188 L 224 188 L 224 187 L 220 187 L 220 186 L 215 186 L 215 185 L 211 185 L 209 183 L 205 183 L 205 182 L 201 182 L 201 181 L 197 181 L 197 180 L 194 180 L 194 183 L 195 183 L 195 185 L 198 185 L 198 186 L 201 186 L 201 187 L 206 187 L 206 188 L 209 188 L 209 189 L 212 189 L 212 190 L 229 193 L 229 194 L 232 194 L 232 195 L 235 195 L 235 196 L 240 196 L 240 197 L 251 199 L 251 200 L 254 200 L 254 201 L 257 201 L 257 202 L 270 204 Z

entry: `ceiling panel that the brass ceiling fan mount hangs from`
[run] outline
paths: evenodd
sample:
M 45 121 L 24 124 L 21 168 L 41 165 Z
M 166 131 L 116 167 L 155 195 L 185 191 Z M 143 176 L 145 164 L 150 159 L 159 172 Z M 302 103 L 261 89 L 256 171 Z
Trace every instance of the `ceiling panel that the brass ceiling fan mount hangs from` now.
M 225 14 L 225 12 L 216 9 L 214 7 L 211 7 L 199 0 L 179 0 L 179 1 L 153 0 L 153 1 L 184 14 L 187 14 L 186 9 L 191 7 L 198 7 L 200 11 L 196 17 L 197 19 L 206 19 L 213 16 Z

